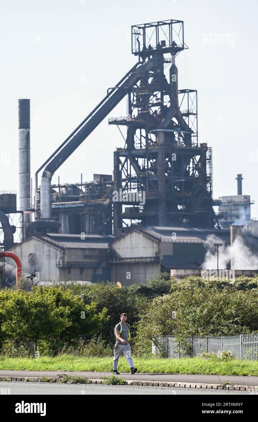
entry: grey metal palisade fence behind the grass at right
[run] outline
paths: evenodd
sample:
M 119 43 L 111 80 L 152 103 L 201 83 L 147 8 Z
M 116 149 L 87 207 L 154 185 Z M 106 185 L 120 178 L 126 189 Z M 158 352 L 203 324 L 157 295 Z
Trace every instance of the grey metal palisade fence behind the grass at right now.
M 192 336 L 186 338 L 190 353 L 187 356 L 197 356 L 203 352 L 215 353 L 231 351 L 236 359 L 258 360 L 258 333 L 253 335 L 208 335 L 206 337 Z M 163 351 L 167 357 L 180 358 L 186 355 L 180 350 L 175 337 L 167 335 L 160 338 L 159 346 L 152 344 L 152 353 Z

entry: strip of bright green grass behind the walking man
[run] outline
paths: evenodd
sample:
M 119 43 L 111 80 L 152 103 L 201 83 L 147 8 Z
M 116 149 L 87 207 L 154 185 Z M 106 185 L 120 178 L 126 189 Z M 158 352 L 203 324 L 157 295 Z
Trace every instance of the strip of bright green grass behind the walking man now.
M 228 360 L 201 357 L 187 359 L 134 358 L 139 373 L 219 374 L 258 376 L 258 361 Z M 76 357 L 60 355 L 38 359 L 1 357 L 0 370 L 19 371 L 112 371 L 112 357 Z M 119 360 L 119 372 L 129 372 L 124 357 Z

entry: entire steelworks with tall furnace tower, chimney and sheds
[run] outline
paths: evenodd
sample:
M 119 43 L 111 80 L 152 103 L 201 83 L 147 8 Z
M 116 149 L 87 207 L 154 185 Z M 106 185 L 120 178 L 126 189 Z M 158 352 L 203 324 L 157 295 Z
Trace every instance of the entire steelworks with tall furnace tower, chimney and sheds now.
M 187 49 L 183 22 L 139 24 L 131 39 L 136 64 L 38 168 L 35 195 L 30 100 L 19 100 L 19 208 L 15 192 L 0 192 L 0 285 L 3 248 L 43 281 L 122 285 L 162 271 L 199 274 L 208 236 L 229 245 L 232 225 L 243 226 L 242 239 L 257 253 L 258 221 L 251 219 L 250 196 L 242 195 L 242 175 L 237 195 L 212 197 L 212 149 L 198 138 L 197 91 L 178 89 L 176 57 Z M 124 141 L 110 174 L 53 184 L 56 170 L 125 97 L 126 115 L 108 122 Z

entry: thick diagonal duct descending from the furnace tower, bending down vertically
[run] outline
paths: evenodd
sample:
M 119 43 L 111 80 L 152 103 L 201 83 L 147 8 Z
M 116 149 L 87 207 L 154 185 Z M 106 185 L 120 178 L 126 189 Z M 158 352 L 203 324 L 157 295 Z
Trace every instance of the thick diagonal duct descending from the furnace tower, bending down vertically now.
M 97 106 L 94 111 L 88 116 L 88 121 L 80 125 L 80 129 L 73 135 L 73 137 L 66 143 L 63 149 L 49 162 L 41 177 L 41 218 L 51 219 L 51 179 L 57 168 L 65 162 L 73 151 L 87 138 L 95 127 L 102 122 L 102 120 L 113 110 L 115 106 L 125 97 L 127 90 L 130 89 L 140 79 L 141 70 L 151 70 L 155 66 L 156 60 L 154 58 L 144 62 L 139 70 L 136 69 L 132 74 L 128 72 L 121 80 L 123 83 L 116 90 L 112 91 L 111 96 L 106 96 Z M 138 65 L 137 63 L 136 65 Z M 135 66 L 133 67 L 133 69 Z M 109 93 L 110 95 L 110 93 Z

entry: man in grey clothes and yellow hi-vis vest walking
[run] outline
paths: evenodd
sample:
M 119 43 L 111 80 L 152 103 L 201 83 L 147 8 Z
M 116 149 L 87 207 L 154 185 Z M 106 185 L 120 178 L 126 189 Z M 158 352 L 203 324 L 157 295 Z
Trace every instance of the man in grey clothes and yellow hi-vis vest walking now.
M 133 367 L 133 359 L 131 358 L 130 325 L 126 322 L 126 320 L 127 315 L 121 314 L 121 322 L 116 325 L 114 330 L 116 344 L 114 346 L 113 373 L 116 375 L 119 375 L 119 372 L 117 372 L 117 364 L 121 354 L 125 355 L 125 359 L 130 366 L 131 373 L 133 374 L 137 372 L 137 368 Z

